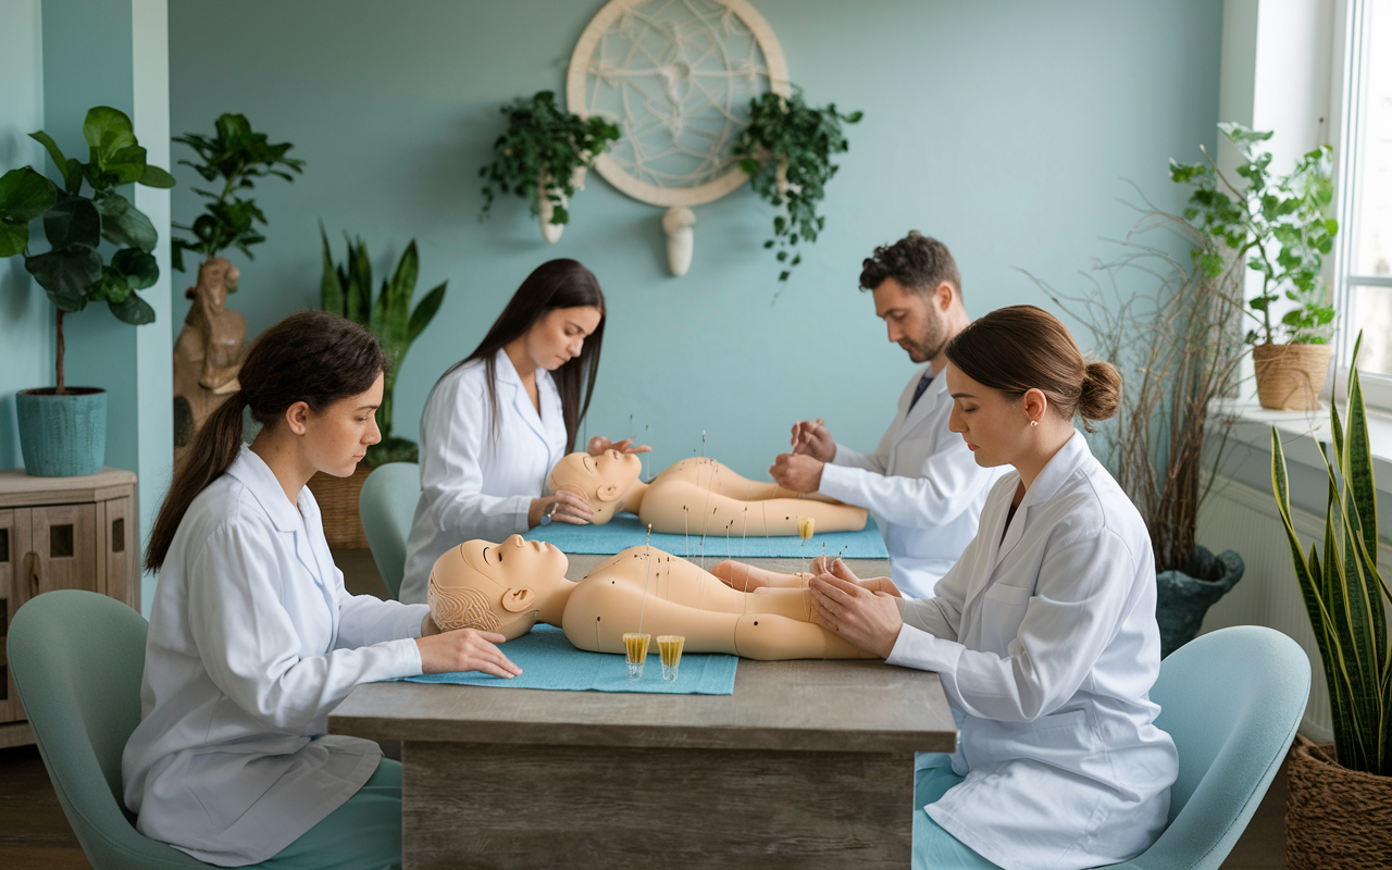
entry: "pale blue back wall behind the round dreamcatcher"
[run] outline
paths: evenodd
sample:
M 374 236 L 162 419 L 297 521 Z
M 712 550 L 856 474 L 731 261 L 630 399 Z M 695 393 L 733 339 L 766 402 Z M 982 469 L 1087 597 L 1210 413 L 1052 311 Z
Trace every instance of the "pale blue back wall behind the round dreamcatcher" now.
M 746 188 L 696 209 L 696 259 L 667 276 L 661 209 L 593 178 L 558 245 L 521 200 L 477 223 L 476 173 L 498 106 L 564 92 L 599 0 L 207 3 L 171 0 L 171 127 L 209 132 L 246 113 L 309 161 L 264 182 L 270 242 L 237 258 L 232 305 L 252 333 L 315 305 L 322 217 L 362 234 L 379 273 L 413 237 L 420 290 L 448 278 L 440 316 L 398 381 L 398 434 L 413 437 L 434 379 L 468 354 L 526 273 L 574 256 L 610 299 L 589 432 L 653 441 L 658 466 L 709 451 L 761 473 L 788 426 L 821 415 L 874 445 L 912 366 L 885 344 L 860 260 L 919 228 L 951 245 L 973 313 L 1044 296 L 1108 252 L 1133 213 L 1119 177 L 1176 207 L 1171 156 L 1214 143 L 1222 4 L 1217 0 L 757 0 L 814 103 L 864 110 L 828 188 L 827 230 L 777 306 L 761 249 L 771 210 Z M 187 149 L 175 146 L 175 159 Z M 174 220 L 199 209 L 178 173 Z M 341 251 L 340 251 L 341 253 Z M 188 277 L 181 277 L 188 283 Z M 175 299 L 178 329 L 187 309 Z M 649 427 L 646 434 L 643 429 Z

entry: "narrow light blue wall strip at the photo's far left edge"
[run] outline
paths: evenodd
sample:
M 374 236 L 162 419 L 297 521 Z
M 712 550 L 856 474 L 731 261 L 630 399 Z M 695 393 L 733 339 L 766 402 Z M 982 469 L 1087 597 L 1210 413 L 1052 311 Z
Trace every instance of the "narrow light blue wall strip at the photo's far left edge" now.
M 43 148 L 28 134 L 43 127 L 40 0 L 8 0 L 0 26 L 0 174 L 39 166 Z M 38 228 L 39 224 L 35 224 Z M 40 231 L 42 232 L 42 231 Z M 42 241 L 39 242 L 42 245 Z M 0 260 L 0 468 L 17 468 L 17 390 L 53 383 L 53 306 L 24 270 L 22 258 Z

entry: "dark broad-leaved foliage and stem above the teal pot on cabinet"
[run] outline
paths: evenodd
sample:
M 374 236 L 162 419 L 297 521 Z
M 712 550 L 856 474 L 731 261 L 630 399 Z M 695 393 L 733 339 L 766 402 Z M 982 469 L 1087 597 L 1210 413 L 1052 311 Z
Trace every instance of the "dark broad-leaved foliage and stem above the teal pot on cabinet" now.
M 174 177 L 146 163 L 131 118 L 110 106 L 88 111 L 82 138 L 88 161 L 68 157 L 49 134 L 29 134 L 43 145 L 63 178 L 58 188 L 33 167 L 0 177 L 0 256 L 24 256 L 25 270 L 58 309 L 57 393 L 63 379 L 63 316 L 89 302 L 106 302 L 120 320 L 141 326 L 155 322 L 155 309 L 136 295 L 160 277 L 153 251 L 155 224 L 117 192 L 128 184 L 174 187 Z M 84 184 L 92 188 L 82 195 Z M 29 221 L 42 217 L 49 249 L 29 251 Z M 102 241 L 117 248 L 107 259 Z

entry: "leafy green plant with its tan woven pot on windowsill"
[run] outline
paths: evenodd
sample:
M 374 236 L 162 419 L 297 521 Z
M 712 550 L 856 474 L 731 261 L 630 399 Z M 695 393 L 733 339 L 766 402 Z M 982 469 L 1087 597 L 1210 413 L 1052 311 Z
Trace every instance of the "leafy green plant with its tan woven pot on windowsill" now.
M 1185 217 L 1214 239 L 1215 248 L 1225 249 L 1224 255 L 1261 276 L 1261 292 L 1249 301 L 1258 329 L 1247 331 L 1261 406 L 1313 411 L 1320 406 L 1332 352 L 1334 308 L 1327 302 L 1321 270 L 1339 230 L 1328 216 L 1334 150 L 1321 145 L 1303 155 L 1290 174 L 1274 175 L 1271 153 L 1258 150 L 1270 131 L 1242 124 L 1219 124 L 1218 129 L 1242 155 L 1236 173 L 1246 187 L 1219 173 L 1207 152 L 1200 163 L 1171 160 L 1171 178 L 1194 185 Z M 1222 256 L 1217 251 L 1211 256 L 1210 269 L 1222 269 Z M 1272 305 L 1282 296 L 1293 308 L 1274 323 Z

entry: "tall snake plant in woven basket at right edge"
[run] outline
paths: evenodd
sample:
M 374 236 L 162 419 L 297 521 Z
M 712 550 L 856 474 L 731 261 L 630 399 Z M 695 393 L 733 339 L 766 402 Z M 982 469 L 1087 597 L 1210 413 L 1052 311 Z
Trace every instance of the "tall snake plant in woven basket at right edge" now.
M 1359 349 L 1349 367 L 1347 430 L 1329 406 L 1334 459 L 1328 475 L 1322 546 L 1302 551 L 1290 521 L 1286 458 L 1271 429 L 1271 484 L 1290 541 L 1296 580 L 1314 629 L 1329 688 L 1334 745 L 1297 738 L 1288 763 L 1286 867 L 1342 870 L 1392 862 L 1392 593 L 1378 574 L 1377 484 Z

